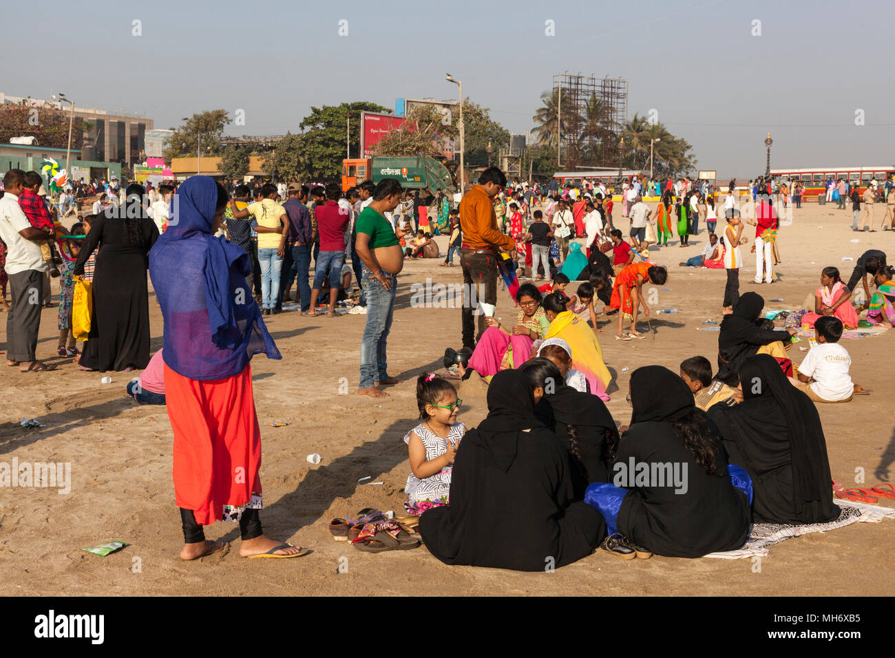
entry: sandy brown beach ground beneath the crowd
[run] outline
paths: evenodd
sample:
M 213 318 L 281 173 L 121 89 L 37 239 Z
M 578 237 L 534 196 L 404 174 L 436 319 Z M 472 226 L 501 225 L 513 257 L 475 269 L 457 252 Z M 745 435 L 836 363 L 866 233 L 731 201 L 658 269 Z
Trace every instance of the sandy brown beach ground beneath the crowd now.
M 884 209 L 877 204 L 876 221 Z M 623 221 L 623 226 L 627 222 Z M 669 290 L 659 290 L 654 308 L 677 306 L 678 314 L 653 320 L 655 340 L 618 342 L 615 322 L 601 334 L 613 375 L 609 410 L 628 423 L 627 383 L 635 368 L 659 363 L 677 371 L 692 355 L 716 361 L 718 334 L 700 331 L 703 320 L 720 320 L 723 270 L 678 268 L 702 251 L 702 233 L 690 246 L 654 250 L 655 261 L 669 266 Z M 820 228 L 823 226 L 823 228 Z M 801 303 L 818 286 L 821 269 L 840 267 L 848 278 L 853 261 L 866 249 L 895 252 L 895 233 L 855 234 L 851 212 L 805 205 L 792 226 L 780 230 L 780 281 L 752 286 L 754 256 L 745 247 L 741 292 L 757 290 L 766 309 Z M 744 235 L 754 236 L 746 227 Z M 859 239 L 859 243 L 850 240 Z M 445 238 L 439 238 L 444 252 Z M 79 372 L 69 358 L 55 357 L 56 309 L 41 321 L 38 358 L 58 363 L 55 372 L 4 371 L 4 418 L 0 461 L 70 462 L 71 492 L 55 489 L 0 490 L 0 594 L 836 594 L 863 596 L 895 591 L 890 542 L 895 524 L 854 524 L 829 534 L 812 534 L 771 547 L 771 556 L 754 560 L 618 560 L 596 551 L 551 573 L 448 567 L 424 547 L 414 551 L 368 554 L 334 542 L 328 520 L 364 507 L 402 514 L 409 465 L 402 440 L 417 423 L 415 378 L 440 367 L 447 346 L 459 348 L 460 311 L 410 306 L 411 286 L 427 277 L 460 283 L 459 267 L 440 260 L 405 265 L 389 337 L 389 373 L 402 382 L 389 397 L 354 395 L 365 316 L 337 319 L 301 317 L 297 312 L 270 316 L 271 334 L 282 361 L 256 357 L 252 363 L 255 402 L 262 428 L 261 480 L 266 508 L 265 533 L 310 547 L 297 560 L 243 560 L 238 528 L 218 523 L 209 539 L 230 541 L 228 551 L 183 562 L 180 517 L 171 480 L 171 427 L 162 406 L 138 406 L 124 394 L 134 375 Z M 570 290 L 574 289 L 570 286 Z M 161 346 L 162 320 L 150 296 L 152 349 Z M 506 292 L 499 292 L 497 315 L 515 316 Z M 4 315 L 0 313 L 0 320 Z M 601 324 L 603 321 L 601 320 Z M 0 321 L 0 339 L 5 340 Z M 833 477 L 854 486 L 862 472 L 866 486 L 891 478 L 895 432 L 886 384 L 895 332 L 843 341 L 853 360 L 853 379 L 873 394 L 846 405 L 820 406 Z M 798 363 L 804 356 L 793 348 Z M 347 390 L 347 394 L 344 394 Z M 486 387 L 473 377 L 460 391 L 460 420 L 474 426 L 486 414 Z M 25 429 L 21 419 L 37 418 L 43 429 Z M 268 423 L 288 423 L 270 427 Z M 320 453 L 320 465 L 305 457 Z M 384 484 L 358 485 L 366 482 Z M 865 484 L 859 484 L 865 486 Z M 881 499 L 895 507 L 895 500 Z M 520 519 L 520 523 L 523 519 Z M 131 545 L 107 557 L 81 551 L 120 540 Z

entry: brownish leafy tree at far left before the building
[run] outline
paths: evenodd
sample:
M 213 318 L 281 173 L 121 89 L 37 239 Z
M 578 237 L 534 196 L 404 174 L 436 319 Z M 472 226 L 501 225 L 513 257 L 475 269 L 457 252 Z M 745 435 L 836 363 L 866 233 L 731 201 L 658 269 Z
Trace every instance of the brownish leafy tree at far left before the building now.
M 68 124 L 71 113 L 52 105 L 31 106 L 26 101 L 0 105 L 0 142 L 13 137 L 37 137 L 40 146 L 49 149 L 68 147 Z M 81 149 L 89 124 L 77 116 L 72 124 L 72 149 Z

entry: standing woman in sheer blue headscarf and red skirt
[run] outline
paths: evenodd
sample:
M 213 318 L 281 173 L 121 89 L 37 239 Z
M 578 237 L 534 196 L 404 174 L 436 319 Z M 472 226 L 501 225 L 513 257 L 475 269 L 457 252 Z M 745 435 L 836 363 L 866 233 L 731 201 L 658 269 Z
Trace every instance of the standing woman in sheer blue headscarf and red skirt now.
M 202 526 L 239 521 L 242 557 L 296 558 L 308 551 L 261 532 L 261 436 L 251 391 L 252 355 L 282 358 L 246 286 L 251 265 L 215 238 L 227 194 L 192 176 L 172 201 L 166 232 L 149 252 L 149 276 L 165 319 L 165 389 L 174 432 L 175 498 L 183 560 L 218 551 Z

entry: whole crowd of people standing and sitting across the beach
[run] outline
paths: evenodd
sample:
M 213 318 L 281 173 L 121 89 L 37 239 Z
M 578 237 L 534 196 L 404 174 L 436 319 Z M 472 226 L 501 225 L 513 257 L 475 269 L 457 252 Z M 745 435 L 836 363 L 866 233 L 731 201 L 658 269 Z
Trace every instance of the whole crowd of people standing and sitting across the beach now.
M 754 213 L 744 218 L 731 202 L 731 182 L 720 218 L 712 184 L 686 179 L 632 179 L 619 208 L 602 184 L 562 191 L 507 185 L 503 172 L 489 167 L 454 208 L 447 191 L 425 199 L 393 178 L 348 190 L 266 183 L 228 191 L 195 175 L 158 189 L 94 188 L 99 206 L 60 235 L 58 219 L 68 210 L 43 201 L 31 174 L 7 172 L 0 198 L 12 292 L 7 365 L 50 369 L 37 359 L 37 336 L 45 272 L 59 269 L 59 355 L 75 357 L 81 370 L 141 370 L 128 393 L 166 405 L 183 560 L 223 548 L 202 529 L 221 519 L 239 523 L 243 557 L 308 552 L 269 539 L 260 522 L 251 358 L 281 358 L 265 319 L 292 301 L 293 284 L 303 315 L 321 314 L 320 302 L 335 318 L 354 280 L 353 312 L 366 314 L 357 392 L 385 397 L 383 387 L 399 383 L 388 374 L 398 276 L 409 259 L 440 258 L 431 246 L 439 234 L 448 242 L 441 265 L 452 266 L 458 252 L 464 283 L 482 291 L 462 309 L 463 348 L 449 350 L 456 369 L 418 378 L 420 422 L 405 435 L 406 509 L 420 517 L 422 540 L 439 560 L 541 570 L 597 547 L 624 559 L 695 558 L 737 549 L 753 522 L 814 524 L 839 514 L 814 404 L 866 394 L 851 379 L 840 338 L 860 322 L 892 325 L 895 269 L 884 252 L 870 250 L 847 284 L 839 269 L 822 270 L 814 308 L 765 318 L 762 295 L 739 294 L 744 223 L 756 231 L 754 282 L 772 284 L 778 210 L 788 190 L 760 182 Z M 79 190 L 81 198 L 87 191 L 78 185 L 76 199 Z M 652 192 L 660 200 L 651 209 L 644 199 Z M 675 230 L 686 246 L 700 232 L 700 217 L 706 246 L 681 265 L 727 269 L 717 371 L 701 355 L 679 372 L 636 369 L 626 397 L 631 422 L 619 427 L 605 404 L 612 375 L 597 319 L 617 316 L 617 340 L 646 338 L 638 319 L 654 309 L 644 284 L 669 280 L 649 246 L 669 246 Z M 147 271 L 163 318 L 164 347 L 155 355 Z M 499 278 L 518 308 L 507 325 L 495 316 Z M 79 353 L 72 289 L 82 281 L 92 285 L 92 311 Z M 567 295 L 573 282 L 575 294 Z M 856 306 L 859 284 L 866 301 Z M 813 328 L 816 345 L 797 365 L 789 349 L 799 328 Z M 461 381 L 478 376 L 488 384 L 488 417 L 474 428 L 458 420 L 455 370 Z M 658 482 L 638 475 L 643 464 L 653 475 L 656 465 L 668 469 Z M 237 467 L 245 477 L 234 482 Z M 375 531 L 362 541 L 375 541 Z

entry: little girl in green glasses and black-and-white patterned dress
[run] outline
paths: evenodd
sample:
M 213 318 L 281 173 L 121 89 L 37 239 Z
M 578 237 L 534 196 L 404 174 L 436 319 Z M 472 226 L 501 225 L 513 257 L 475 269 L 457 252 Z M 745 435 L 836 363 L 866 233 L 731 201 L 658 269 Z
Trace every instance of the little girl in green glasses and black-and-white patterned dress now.
M 422 423 L 404 437 L 412 471 L 407 476 L 404 506 L 411 514 L 420 515 L 449 502 L 454 457 L 466 432 L 465 425 L 456 422 L 462 402 L 447 380 L 434 374 L 422 374 L 416 380 L 416 405 Z

